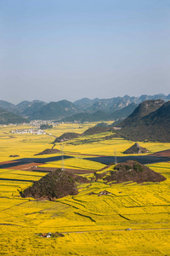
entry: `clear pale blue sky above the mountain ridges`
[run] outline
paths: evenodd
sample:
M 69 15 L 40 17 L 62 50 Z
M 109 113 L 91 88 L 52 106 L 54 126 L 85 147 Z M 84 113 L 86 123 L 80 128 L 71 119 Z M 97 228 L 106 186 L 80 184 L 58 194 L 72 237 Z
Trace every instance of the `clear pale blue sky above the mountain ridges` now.
M 0 0 L 0 100 L 170 93 L 170 0 Z

